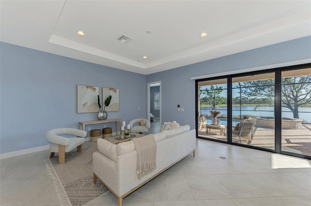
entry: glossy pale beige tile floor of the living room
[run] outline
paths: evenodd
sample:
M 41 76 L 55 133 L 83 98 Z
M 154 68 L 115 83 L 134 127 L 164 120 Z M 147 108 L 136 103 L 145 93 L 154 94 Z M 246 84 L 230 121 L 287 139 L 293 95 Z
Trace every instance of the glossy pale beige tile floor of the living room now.
M 0 160 L 1 206 L 60 206 L 49 151 Z M 226 159 L 220 159 L 223 156 Z M 117 206 L 107 192 L 85 206 Z M 191 154 L 123 206 L 311 206 L 311 161 L 197 139 Z

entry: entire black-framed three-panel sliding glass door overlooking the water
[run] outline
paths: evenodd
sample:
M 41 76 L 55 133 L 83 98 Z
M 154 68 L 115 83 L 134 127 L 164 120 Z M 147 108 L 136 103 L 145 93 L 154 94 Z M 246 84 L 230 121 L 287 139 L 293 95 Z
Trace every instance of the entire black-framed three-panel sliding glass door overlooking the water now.
M 311 159 L 311 64 L 196 80 L 197 136 Z

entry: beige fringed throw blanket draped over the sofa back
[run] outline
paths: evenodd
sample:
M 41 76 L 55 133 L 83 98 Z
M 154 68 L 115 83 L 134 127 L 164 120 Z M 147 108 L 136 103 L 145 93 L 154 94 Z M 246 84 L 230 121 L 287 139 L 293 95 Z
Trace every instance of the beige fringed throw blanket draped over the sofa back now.
M 137 151 L 138 179 L 153 172 L 156 168 L 156 143 L 153 134 L 132 139 Z

